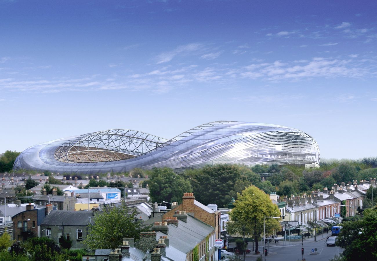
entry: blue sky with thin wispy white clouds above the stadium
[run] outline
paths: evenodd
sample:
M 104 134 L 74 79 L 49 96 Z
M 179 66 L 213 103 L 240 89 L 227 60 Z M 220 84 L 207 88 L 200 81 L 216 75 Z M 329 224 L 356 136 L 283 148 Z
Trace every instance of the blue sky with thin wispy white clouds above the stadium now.
M 377 156 L 375 1 L 0 0 L 0 152 L 216 120 Z

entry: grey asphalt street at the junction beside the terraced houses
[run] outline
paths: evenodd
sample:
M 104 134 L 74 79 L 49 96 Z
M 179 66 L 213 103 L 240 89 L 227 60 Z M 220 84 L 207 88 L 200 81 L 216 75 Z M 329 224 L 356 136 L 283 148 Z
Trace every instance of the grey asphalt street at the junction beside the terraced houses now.
M 326 237 L 321 238 L 317 237 L 317 241 L 314 241 L 314 238 L 310 238 L 303 241 L 303 248 L 304 248 L 304 255 L 306 261 L 325 261 L 333 258 L 335 255 L 339 255 L 342 252 L 340 247 L 328 247 L 325 244 Z M 285 246 L 283 246 L 283 241 L 280 240 L 279 244 L 270 243 L 270 249 L 268 251 L 268 256 L 266 256 L 266 260 L 268 261 L 298 261 L 302 260 L 301 255 L 301 241 L 296 242 L 286 242 Z M 250 248 L 250 247 L 248 247 Z M 312 253 L 312 249 L 317 248 L 317 251 Z M 259 252 L 263 252 L 263 245 L 259 245 Z M 260 256 L 255 255 L 253 252 L 246 254 L 245 260 L 246 261 L 254 261 L 256 258 Z M 262 260 L 263 260 L 262 256 Z M 242 255 L 241 255 L 242 259 Z

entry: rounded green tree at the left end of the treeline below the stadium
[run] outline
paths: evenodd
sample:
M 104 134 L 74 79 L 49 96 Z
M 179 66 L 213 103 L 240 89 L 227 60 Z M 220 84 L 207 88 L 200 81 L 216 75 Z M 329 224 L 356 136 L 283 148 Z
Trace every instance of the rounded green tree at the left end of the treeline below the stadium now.
M 149 177 L 149 192 L 152 202 L 182 202 L 185 192 L 191 192 L 188 180 L 177 175 L 172 169 L 153 168 Z

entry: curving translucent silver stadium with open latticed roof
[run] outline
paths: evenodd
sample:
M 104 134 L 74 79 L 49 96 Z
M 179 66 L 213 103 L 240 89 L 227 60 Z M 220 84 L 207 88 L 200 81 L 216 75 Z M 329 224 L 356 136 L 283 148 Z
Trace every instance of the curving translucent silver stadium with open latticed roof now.
M 319 167 L 319 147 L 305 132 L 265 123 L 215 121 L 167 140 L 111 129 L 41 143 L 21 152 L 14 170 L 95 174 L 213 164 Z

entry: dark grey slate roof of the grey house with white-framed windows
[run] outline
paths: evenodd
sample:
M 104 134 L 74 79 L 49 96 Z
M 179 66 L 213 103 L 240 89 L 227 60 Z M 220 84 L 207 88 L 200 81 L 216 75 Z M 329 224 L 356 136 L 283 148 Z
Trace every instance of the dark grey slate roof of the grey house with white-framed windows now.
M 86 226 L 91 216 L 91 211 L 51 210 L 42 225 Z

